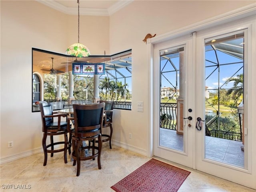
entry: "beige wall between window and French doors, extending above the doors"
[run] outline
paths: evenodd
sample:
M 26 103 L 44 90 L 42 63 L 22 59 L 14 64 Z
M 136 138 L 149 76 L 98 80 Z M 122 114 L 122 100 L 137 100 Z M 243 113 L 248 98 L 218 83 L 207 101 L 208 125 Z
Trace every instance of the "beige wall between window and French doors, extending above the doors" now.
M 132 111 L 116 110 L 113 140 L 145 154 L 149 114 L 149 65 L 144 37 L 163 35 L 187 25 L 235 10 L 253 1 L 134 1 L 110 16 L 110 52 L 132 49 Z M 122 19 L 120 19 L 122 18 Z M 144 101 L 144 112 L 137 102 Z M 132 133 L 132 139 L 129 139 Z

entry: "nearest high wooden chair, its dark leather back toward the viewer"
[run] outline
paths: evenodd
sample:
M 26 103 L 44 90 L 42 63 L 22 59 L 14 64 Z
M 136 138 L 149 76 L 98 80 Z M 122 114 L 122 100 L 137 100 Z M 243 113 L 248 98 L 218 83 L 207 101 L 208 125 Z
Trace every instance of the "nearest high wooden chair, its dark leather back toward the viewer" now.
M 98 168 L 101 169 L 100 155 L 102 149 L 101 129 L 103 122 L 105 103 L 94 105 L 77 105 L 73 104 L 74 118 L 68 117 L 68 130 L 72 134 L 72 158 L 73 166 L 77 162 L 76 176 L 80 175 L 81 161 L 93 159 L 97 157 Z M 74 129 L 70 130 L 70 120 L 74 120 Z M 96 146 L 96 139 L 98 146 Z M 92 141 L 92 146 L 82 145 L 84 141 Z M 83 153 L 85 149 L 92 149 L 92 152 L 86 155 Z

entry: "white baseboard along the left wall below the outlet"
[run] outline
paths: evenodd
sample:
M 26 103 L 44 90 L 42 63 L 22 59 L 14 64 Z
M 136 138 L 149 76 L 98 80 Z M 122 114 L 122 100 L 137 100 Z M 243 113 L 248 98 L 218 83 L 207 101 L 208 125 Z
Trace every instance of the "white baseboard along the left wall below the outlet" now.
M 13 154 L 13 155 L 8 155 L 8 156 L 5 156 L 5 157 L 1 157 L 0 158 L 0 165 L 2 165 L 4 163 L 9 163 L 9 162 L 17 160 L 17 159 L 28 157 L 30 155 L 34 155 L 34 154 L 37 154 L 37 153 L 42 153 L 42 152 L 43 152 L 42 147 L 38 147 L 38 148 L 35 148 L 35 149 L 32 149 L 32 150 L 23 151 L 21 153 L 16 153 L 16 154 Z

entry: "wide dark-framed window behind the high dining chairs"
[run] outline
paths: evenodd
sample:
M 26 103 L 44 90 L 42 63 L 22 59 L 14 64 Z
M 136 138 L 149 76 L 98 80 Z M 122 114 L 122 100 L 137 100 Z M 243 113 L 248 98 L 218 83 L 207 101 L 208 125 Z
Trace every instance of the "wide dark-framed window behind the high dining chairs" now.
M 71 83 L 69 78 L 72 74 L 70 73 L 72 63 L 105 63 L 105 74 L 98 76 L 100 99 L 114 100 L 114 108 L 131 110 L 131 49 L 109 56 L 90 55 L 89 57 L 75 58 L 70 55 L 32 48 L 32 68 L 33 71 L 36 71 L 32 77 L 32 112 L 39 111 L 36 108 L 38 106 L 34 105 L 34 102 L 39 100 L 51 103 L 70 102 L 69 98 L 75 100 L 93 99 L 94 75 L 72 75 Z

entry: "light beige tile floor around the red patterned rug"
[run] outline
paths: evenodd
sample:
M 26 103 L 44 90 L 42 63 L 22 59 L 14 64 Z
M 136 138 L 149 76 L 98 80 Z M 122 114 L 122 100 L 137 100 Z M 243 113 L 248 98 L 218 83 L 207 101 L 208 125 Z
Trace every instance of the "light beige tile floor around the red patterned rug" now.
M 70 156 L 68 155 L 70 159 Z M 190 171 L 179 192 L 256 192 L 250 188 L 223 180 L 184 167 L 170 161 L 170 165 Z M 76 176 L 76 166 L 72 162 L 64 163 L 63 153 L 55 153 L 54 157 L 48 155 L 48 162 L 43 166 L 43 153 L 32 155 L 23 159 L 5 163 L 0 166 L 0 191 L 15 192 L 114 192 L 110 187 L 116 182 L 136 170 L 151 158 L 139 155 L 132 151 L 103 143 L 101 165 L 99 170 L 97 161 L 82 161 L 80 176 Z M 31 186 L 30 189 L 4 189 L 7 184 Z

